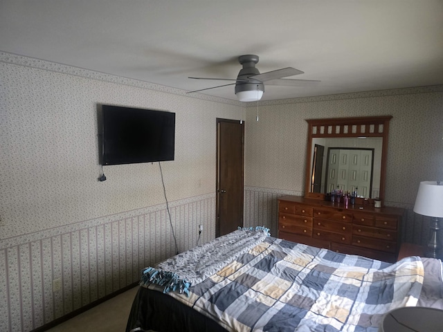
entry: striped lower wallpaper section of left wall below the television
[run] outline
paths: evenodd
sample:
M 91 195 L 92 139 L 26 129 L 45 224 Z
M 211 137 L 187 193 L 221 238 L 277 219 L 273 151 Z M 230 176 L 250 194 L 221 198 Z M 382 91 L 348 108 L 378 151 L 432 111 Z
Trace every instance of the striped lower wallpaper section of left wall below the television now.
M 170 203 L 179 252 L 215 237 L 215 194 Z M 0 331 L 31 331 L 124 288 L 175 255 L 165 205 L 0 241 Z

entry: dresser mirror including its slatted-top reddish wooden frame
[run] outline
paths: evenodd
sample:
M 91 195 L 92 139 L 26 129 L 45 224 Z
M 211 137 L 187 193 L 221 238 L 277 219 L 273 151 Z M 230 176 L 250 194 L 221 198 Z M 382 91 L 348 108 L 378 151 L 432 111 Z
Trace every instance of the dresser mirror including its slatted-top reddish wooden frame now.
M 384 198 L 392 116 L 312 119 L 308 122 L 305 197 L 325 199 L 334 189 Z

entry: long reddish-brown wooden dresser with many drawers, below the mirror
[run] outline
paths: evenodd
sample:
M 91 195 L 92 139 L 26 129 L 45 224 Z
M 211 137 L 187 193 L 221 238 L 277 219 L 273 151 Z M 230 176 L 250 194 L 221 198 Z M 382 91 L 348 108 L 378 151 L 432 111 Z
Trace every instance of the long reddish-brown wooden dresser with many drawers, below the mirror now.
M 401 208 L 374 208 L 282 196 L 278 237 L 336 252 L 394 262 L 400 248 Z

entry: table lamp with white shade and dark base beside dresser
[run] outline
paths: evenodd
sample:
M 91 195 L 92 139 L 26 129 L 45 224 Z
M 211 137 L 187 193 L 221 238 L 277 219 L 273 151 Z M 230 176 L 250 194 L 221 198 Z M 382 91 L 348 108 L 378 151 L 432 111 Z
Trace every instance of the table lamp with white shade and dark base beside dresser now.
M 442 184 L 440 185 L 440 182 Z M 443 181 L 423 181 L 418 188 L 414 212 L 423 216 L 431 216 L 429 226 L 429 242 L 426 257 L 441 258 L 440 218 L 443 217 Z

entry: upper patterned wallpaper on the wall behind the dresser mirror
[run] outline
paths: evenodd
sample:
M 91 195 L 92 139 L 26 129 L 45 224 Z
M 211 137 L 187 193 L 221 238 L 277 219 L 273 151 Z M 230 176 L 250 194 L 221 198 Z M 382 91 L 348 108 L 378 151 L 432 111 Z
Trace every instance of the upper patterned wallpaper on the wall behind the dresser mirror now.
M 305 119 L 391 115 L 386 201 L 413 204 L 420 181 L 443 179 L 443 88 L 402 92 L 406 91 L 409 94 L 350 93 L 340 100 L 325 96 L 269 104 L 258 107 L 258 122 L 251 107 L 246 117 L 245 184 L 304 191 Z

